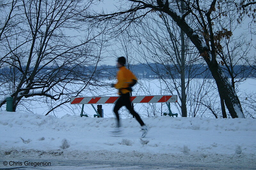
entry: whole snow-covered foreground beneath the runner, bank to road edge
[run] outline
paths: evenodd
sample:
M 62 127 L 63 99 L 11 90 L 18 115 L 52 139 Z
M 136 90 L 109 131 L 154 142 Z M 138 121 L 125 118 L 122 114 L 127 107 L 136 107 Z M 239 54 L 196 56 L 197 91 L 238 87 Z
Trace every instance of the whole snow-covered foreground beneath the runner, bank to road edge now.
M 85 169 L 114 169 L 114 162 L 123 165 L 120 169 L 256 169 L 255 119 L 155 116 L 143 121 L 150 128 L 145 138 L 134 118 L 122 119 L 124 134 L 114 137 L 108 133 L 114 117 L 0 112 L 0 169 L 35 168 L 25 161 L 52 162 L 36 167 L 41 169 L 76 169 L 79 162 L 98 162 Z M 59 166 L 61 161 L 72 166 Z

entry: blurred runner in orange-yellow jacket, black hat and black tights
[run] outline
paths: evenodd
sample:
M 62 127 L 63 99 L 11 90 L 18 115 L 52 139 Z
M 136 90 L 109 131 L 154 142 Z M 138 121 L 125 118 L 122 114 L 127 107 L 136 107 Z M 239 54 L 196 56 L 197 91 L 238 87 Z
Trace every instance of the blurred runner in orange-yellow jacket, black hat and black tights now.
M 130 113 L 136 118 L 136 120 L 140 123 L 141 130 L 143 131 L 143 134 L 141 137 L 145 137 L 148 133 L 148 128 L 145 125 L 145 123 L 141 120 L 140 115 L 138 115 L 138 113 L 136 113 L 132 108 L 132 103 L 130 100 L 130 92 L 132 92 L 132 86 L 136 84 L 137 78 L 136 76 L 134 76 L 134 74 L 130 70 L 128 70 L 124 66 L 125 62 L 126 60 L 124 57 L 118 58 L 117 67 L 119 68 L 119 71 L 117 72 L 117 76 L 116 76 L 117 83 L 111 85 L 112 87 L 115 87 L 116 89 L 118 89 L 118 94 L 120 95 L 114 107 L 114 113 L 117 119 L 117 128 L 114 131 L 112 131 L 112 133 L 118 134 L 122 131 L 118 110 L 122 106 L 125 106 L 130 111 Z

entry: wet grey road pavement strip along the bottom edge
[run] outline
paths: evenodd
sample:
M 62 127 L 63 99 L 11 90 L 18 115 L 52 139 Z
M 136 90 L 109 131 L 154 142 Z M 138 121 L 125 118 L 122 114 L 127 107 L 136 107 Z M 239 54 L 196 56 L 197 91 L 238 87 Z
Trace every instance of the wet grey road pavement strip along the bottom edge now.
M 29 160 L 27 161 L 13 161 L 0 160 L 0 170 L 256 170 L 256 167 L 246 167 L 246 165 L 232 166 L 232 165 L 196 165 L 196 164 L 182 164 L 182 163 L 159 163 L 150 164 L 149 162 L 115 162 L 109 161 L 84 161 L 79 160 Z M 5 161 L 5 162 L 4 162 Z M 36 164 L 40 164 L 37 166 Z M 44 165 L 42 166 L 42 162 Z M 47 164 L 48 163 L 48 164 Z M 7 164 L 7 165 L 6 165 Z

